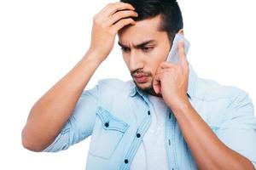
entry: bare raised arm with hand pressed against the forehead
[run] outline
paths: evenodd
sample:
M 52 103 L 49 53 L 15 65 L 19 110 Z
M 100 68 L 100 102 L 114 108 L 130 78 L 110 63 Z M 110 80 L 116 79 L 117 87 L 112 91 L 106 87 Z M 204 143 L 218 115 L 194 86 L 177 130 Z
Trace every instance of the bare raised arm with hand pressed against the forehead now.
M 131 16 L 136 17 L 137 13 L 128 3 L 110 3 L 95 15 L 88 52 L 32 106 L 22 130 L 22 144 L 26 149 L 42 151 L 55 140 L 72 116 L 90 77 L 112 50 L 117 31 L 135 24 L 128 18 Z

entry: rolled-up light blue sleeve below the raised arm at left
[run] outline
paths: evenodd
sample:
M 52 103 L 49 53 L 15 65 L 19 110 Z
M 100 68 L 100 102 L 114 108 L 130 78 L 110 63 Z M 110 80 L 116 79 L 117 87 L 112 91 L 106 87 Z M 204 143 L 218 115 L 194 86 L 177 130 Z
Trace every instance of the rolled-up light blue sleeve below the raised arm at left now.
M 96 110 L 98 108 L 98 85 L 89 90 L 84 90 L 73 110 L 72 116 L 62 127 L 54 142 L 43 152 L 57 152 L 67 150 L 72 144 L 87 138 L 92 133 Z

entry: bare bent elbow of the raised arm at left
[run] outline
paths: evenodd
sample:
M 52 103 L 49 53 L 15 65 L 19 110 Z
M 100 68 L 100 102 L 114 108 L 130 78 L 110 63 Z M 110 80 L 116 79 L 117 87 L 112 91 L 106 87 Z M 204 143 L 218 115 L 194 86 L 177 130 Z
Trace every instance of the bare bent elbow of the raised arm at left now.
M 33 138 L 32 135 L 27 132 L 26 127 L 24 127 L 22 130 L 21 141 L 22 146 L 26 150 L 31 150 L 33 152 L 41 152 L 44 150 L 44 148 L 35 141 L 35 138 Z

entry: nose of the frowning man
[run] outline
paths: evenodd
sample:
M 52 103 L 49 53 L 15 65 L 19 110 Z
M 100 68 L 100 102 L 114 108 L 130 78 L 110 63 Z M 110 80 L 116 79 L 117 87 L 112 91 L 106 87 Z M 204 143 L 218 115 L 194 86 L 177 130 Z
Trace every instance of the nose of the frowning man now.
M 129 68 L 131 71 L 136 71 L 137 69 L 143 68 L 143 58 L 137 53 L 136 50 L 131 50 L 129 58 Z

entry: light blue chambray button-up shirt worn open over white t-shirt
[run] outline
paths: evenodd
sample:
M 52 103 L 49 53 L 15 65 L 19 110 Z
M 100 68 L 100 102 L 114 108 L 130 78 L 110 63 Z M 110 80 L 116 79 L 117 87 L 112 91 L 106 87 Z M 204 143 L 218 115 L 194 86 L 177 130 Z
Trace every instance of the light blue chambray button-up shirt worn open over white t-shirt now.
M 187 94 L 218 139 L 256 164 L 256 118 L 248 94 L 240 88 L 197 77 L 190 63 Z M 102 79 L 94 88 L 84 90 L 61 133 L 43 151 L 67 150 L 91 135 L 86 170 L 128 170 L 153 111 L 148 94 L 132 80 Z M 165 134 L 168 168 L 197 169 L 170 108 L 166 111 Z

